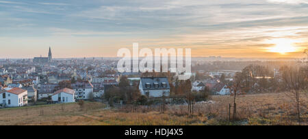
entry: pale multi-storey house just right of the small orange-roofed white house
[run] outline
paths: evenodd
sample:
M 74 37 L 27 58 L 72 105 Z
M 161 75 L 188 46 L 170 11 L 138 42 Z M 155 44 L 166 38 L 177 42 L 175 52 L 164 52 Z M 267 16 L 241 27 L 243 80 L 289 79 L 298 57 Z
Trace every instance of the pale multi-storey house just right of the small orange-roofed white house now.
M 94 88 L 88 80 L 76 82 L 75 84 L 72 84 L 72 87 L 76 92 L 76 99 L 90 99 Z

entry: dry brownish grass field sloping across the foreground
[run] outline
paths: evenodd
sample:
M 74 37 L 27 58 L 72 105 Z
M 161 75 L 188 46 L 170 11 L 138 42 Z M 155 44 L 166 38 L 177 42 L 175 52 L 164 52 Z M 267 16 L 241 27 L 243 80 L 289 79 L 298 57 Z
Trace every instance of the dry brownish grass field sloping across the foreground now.
M 159 108 L 131 107 L 107 109 L 99 102 L 29 106 L 0 109 L 0 125 L 296 125 L 292 99 L 285 93 L 240 95 L 237 121 L 229 122 L 230 96 L 213 96 L 214 103 L 195 104 L 194 114 L 187 106 Z M 302 100 L 302 124 L 307 124 L 307 97 Z

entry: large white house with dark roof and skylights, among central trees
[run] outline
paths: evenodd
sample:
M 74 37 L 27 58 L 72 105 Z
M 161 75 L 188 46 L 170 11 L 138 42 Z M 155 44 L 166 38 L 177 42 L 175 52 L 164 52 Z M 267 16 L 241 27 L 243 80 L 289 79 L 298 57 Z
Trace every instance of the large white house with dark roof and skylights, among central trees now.
M 170 95 L 170 86 L 166 77 L 140 78 L 139 90 L 148 97 L 162 97 Z

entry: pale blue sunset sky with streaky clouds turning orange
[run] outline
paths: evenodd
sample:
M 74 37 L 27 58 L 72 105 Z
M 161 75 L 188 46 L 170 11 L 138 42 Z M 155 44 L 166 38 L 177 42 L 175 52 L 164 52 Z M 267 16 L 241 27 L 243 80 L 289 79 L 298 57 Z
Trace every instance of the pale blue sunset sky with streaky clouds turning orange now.
M 120 48 L 192 57 L 303 57 L 308 0 L 0 0 L 0 59 L 116 57 Z

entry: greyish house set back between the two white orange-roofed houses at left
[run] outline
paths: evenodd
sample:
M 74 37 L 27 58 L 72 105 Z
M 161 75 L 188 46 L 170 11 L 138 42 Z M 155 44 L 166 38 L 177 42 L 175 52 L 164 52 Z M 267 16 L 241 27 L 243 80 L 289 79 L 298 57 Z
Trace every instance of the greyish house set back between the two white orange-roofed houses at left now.
M 40 89 L 38 90 L 38 99 L 49 97 L 55 92 L 55 88 L 59 84 L 40 84 Z

